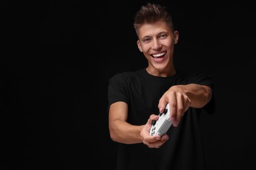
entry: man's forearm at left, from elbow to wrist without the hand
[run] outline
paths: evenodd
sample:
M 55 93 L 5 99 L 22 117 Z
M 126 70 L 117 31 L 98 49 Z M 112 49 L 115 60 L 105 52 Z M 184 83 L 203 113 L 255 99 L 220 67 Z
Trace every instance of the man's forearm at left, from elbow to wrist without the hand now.
M 110 137 L 113 141 L 125 144 L 142 143 L 140 131 L 143 126 L 133 126 L 122 120 L 110 124 Z

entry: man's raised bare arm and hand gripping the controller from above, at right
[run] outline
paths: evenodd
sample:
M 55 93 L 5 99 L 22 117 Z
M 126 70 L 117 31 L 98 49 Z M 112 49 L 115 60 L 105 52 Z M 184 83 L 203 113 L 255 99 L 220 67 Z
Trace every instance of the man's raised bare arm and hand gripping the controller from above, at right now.
M 211 88 L 199 84 L 172 86 L 160 98 L 158 108 L 163 112 L 165 105 L 170 105 L 173 126 L 177 127 L 184 112 L 189 107 L 202 108 L 212 97 Z

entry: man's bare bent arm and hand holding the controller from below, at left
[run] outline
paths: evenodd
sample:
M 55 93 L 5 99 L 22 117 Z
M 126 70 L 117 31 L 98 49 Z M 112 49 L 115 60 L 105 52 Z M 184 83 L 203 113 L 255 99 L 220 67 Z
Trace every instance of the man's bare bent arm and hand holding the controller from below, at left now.
M 159 148 L 168 136 L 151 136 L 149 131 L 152 120 L 157 120 L 158 116 L 152 114 L 146 124 L 134 126 L 127 121 L 128 106 L 126 103 L 119 101 L 110 105 L 109 110 L 109 129 L 110 138 L 113 141 L 124 144 L 144 143 L 150 148 Z

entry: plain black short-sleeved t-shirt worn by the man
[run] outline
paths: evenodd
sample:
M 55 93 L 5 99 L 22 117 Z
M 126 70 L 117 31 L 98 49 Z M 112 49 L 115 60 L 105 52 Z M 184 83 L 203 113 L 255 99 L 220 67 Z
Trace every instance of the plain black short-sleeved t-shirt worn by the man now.
M 127 103 L 127 122 L 143 125 L 150 114 L 159 114 L 159 99 L 171 86 L 191 83 L 213 88 L 211 77 L 200 73 L 188 75 L 177 71 L 176 75 L 170 77 L 152 76 L 146 69 L 118 73 L 109 81 L 108 107 L 117 101 Z M 167 131 L 169 140 L 160 148 L 148 148 L 143 143 L 119 143 L 117 169 L 205 169 L 198 123 L 200 112 L 201 109 L 190 107 L 179 126 L 171 126 Z

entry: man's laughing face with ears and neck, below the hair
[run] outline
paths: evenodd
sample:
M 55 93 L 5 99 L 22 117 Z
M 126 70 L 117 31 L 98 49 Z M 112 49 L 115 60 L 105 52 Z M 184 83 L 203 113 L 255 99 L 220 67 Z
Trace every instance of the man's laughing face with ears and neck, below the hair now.
M 141 25 L 137 45 L 148 60 L 146 70 L 150 75 L 175 75 L 173 50 L 178 40 L 178 31 L 173 31 L 166 22 L 158 21 Z

